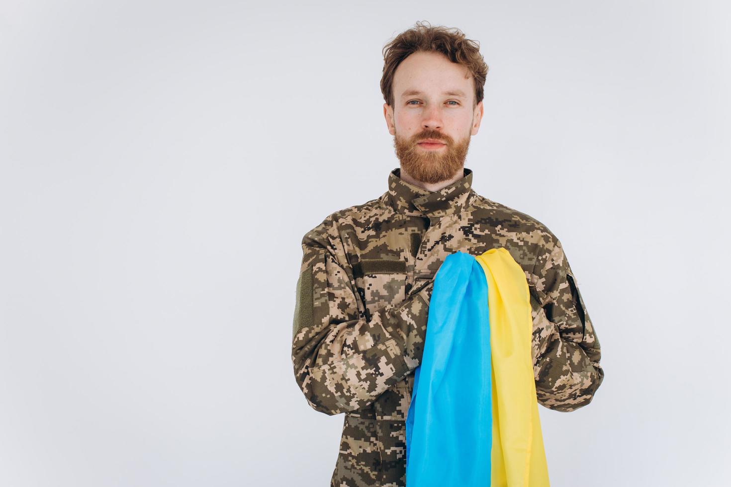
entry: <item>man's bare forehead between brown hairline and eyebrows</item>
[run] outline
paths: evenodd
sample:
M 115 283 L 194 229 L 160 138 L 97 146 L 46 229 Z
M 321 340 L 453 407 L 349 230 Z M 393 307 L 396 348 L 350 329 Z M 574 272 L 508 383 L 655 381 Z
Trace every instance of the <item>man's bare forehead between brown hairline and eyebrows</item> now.
M 467 67 L 452 63 L 442 53 L 413 53 L 401 61 L 393 74 L 396 98 L 417 91 L 433 94 L 461 91 L 469 96 L 472 89 L 472 77 Z

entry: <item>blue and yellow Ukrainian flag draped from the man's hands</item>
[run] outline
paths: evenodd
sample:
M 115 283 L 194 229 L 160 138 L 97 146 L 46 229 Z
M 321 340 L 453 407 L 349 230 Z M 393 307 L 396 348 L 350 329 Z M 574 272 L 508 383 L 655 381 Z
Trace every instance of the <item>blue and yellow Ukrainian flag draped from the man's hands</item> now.
M 407 487 L 545 487 L 526 275 L 505 248 L 434 277 L 406 416 Z

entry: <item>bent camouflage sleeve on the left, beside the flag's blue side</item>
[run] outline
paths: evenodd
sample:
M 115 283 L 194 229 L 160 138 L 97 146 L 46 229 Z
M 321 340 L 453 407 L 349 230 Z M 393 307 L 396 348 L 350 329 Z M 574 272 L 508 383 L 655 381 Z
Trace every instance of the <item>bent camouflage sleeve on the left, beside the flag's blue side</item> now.
M 366 321 L 355 284 L 327 238 L 311 231 L 302 249 L 292 326 L 295 379 L 314 410 L 360 409 L 420 363 L 433 280 Z

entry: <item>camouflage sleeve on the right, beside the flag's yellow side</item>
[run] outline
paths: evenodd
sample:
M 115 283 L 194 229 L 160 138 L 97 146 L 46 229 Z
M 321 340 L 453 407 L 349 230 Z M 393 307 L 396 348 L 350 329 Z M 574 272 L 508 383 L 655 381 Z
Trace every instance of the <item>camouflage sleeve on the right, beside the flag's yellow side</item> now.
M 545 263 L 537 261 L 537 268 L 536 395 L 543 406 L 569 412 L 589 404 L 604 380 L 599 339 L 558 239 L 548 248 Z

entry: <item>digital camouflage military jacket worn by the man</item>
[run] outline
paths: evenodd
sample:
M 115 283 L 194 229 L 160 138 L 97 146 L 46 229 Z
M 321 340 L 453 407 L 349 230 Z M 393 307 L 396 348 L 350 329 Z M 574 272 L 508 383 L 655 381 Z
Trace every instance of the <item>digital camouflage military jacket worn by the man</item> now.
M 292 329 L 295 380 L 314 410 L 345 413 L 330 486 L 405 486 L 405 420 L 433 277 L 450 253 L 504 247 L 531 294 L 539 404 L 572 411 L 604 378 L 599 340 L 561 242 L 480 196 L 472 171 L 430 193 L 400 169 L 388 191 L 325 218 L 302 239 Z

